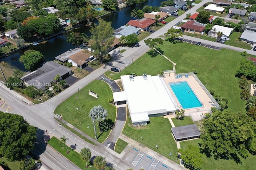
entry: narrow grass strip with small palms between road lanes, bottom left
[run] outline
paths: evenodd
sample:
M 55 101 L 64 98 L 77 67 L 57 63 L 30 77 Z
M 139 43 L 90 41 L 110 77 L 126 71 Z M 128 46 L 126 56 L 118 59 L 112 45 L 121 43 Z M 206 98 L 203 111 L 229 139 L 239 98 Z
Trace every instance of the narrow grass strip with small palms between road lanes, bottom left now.
M 54 149 L 56 149 L 58 152 L 60 152 L 60 154 L 62 154 L 63 156 L 65 156 L 68 160 L 70 160 L 71 162 L 73 162 L 74 164 L 76 164 L 79 168 L 81 168 L 82 170 L 86 170 L 86 162 L 84 162 L 81 158 L 80 158 L 80 154 L 78 154 L 78 152 L 70 149 L 68 146 L 68 150 L 70 150 L 70 152 L 67 154 L 67 149 L 66 147 L 64 147 L 64 149 L 61 148 L 59 140 L 55 137 L 52 137 L 49 141 L 48 144 L 50 144 Z M 93 165 L 91 163 L 88 163 L 88 166 L 92 166 L 90 169 L 92 170 L 97 170 L 96 168 L 93 167 Z

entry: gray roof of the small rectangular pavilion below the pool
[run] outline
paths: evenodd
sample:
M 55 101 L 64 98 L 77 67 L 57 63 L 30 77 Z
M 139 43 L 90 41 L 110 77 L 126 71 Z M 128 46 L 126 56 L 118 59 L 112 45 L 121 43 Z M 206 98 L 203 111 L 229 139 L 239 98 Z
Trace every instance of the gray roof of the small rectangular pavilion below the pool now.
M 198 127 L 195 124 L 186 125 L 182 127 L 174 127 L 171 129 L 176 140 L 196 137 L 200 136 L 201 134 L 201 132 L 199 131 Z

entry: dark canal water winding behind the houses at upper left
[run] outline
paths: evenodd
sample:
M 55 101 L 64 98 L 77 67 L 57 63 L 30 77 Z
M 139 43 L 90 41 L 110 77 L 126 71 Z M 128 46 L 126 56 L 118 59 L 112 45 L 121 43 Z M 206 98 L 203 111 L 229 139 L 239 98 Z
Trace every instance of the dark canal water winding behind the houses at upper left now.
M 131 12 L 134 8 L 142 9 L 146 5 L 160 6 L 162 1 L 164 0 L 148 0 L 144 4 L 138 4 L 135 7 L 125 8 L 119 12 L 115 12 L 107 16 L 104 16 L 102 17 L 102 19 L 108 22 L 109 21 L 112 22 L 112 27 L 114 29 L 117 29 L 122 25 L 126 25 L 130 20 L 134 20 L 134 17 L 131 17 Z M 83 32 L 84 34 L 90 36 L 90 26 L 82 26 L 72 31 Z M 62 34 L 60 36 L 57 36 L 55 38 L 48 40 L 45 43 L 40 43 L 36 46 L 32 45 L 26 50 L 34 49 L 36 51 L 40 51 L 44 55 L 46 61 L 52 61 L 54 60 L 54 57 L 68 51 L 69 49 L 74 49 L 74 46 L 72 44 L 66 42 L 68 36 L 69 36 L 69 33 Z M 13 53 L 12 55 L 1 58 L 1 61 L 8 62 L 10 65 L 15 66 L 18 69 L 21 69 L 23 71 L 26 71 L 23 64 L 21 64 L 18 61 L 18 59 L 20 58 L 20 55 L 22 54 L 24 54 L 24 50 L 20 50 L 16 53 Z

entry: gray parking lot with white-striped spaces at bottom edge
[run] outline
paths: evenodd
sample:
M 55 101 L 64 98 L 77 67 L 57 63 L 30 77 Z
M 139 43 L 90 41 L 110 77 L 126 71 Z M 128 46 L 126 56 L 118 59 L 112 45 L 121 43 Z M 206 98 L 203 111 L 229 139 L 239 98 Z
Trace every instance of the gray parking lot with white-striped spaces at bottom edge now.
M 156 158 L 135 147 L 130 147 L 127 150 L 125 160 L 131 164 L 131 167 L 134 170 L 172 170 L 172 168 L 163 162 L 160 162 Z

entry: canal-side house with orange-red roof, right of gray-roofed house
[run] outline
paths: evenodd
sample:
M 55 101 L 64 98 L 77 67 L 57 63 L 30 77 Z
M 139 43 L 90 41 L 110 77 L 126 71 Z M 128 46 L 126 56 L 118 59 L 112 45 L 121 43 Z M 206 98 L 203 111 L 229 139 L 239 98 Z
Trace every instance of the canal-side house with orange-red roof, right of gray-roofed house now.
M 138 20 L 130 20 L 127 25 L 134 26 L 141 31 L 146 31 L 150 26 L 152 26 L 156 21 L 148 18 L 142 18 Z

